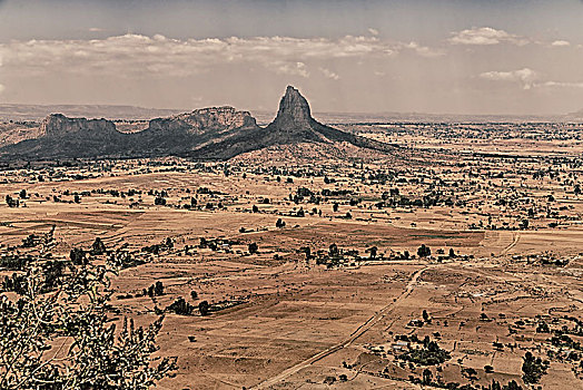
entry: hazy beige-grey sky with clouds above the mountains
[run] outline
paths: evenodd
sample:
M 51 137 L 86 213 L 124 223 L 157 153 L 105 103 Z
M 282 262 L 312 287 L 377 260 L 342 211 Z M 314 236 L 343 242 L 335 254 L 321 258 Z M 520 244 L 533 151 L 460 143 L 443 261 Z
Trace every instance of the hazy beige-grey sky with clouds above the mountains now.
M 0 0 L 0 103 L 583 108 L 582 0 Z

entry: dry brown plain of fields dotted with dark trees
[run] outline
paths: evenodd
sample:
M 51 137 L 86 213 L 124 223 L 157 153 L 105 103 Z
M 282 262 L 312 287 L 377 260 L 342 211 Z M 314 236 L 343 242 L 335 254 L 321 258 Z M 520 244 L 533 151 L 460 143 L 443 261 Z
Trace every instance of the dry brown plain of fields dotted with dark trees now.
M 55 226 L 53 259 L 99 237 L 92 261 L 139 260 L 112 277 L 111 320 L 166 312 L 158 354 L 179 369 L 161 389 L 581 388 L 581 128 L 507 126 L 346 125 L 397 157 L 7 167 L 0 251 L 37 253 L 22 241 Z M 179 298 L 190 314 L 167 309 Z M 412 353 L 426 338 L 444 359 Z M 537 384 L 526 352 L 549 360 Z

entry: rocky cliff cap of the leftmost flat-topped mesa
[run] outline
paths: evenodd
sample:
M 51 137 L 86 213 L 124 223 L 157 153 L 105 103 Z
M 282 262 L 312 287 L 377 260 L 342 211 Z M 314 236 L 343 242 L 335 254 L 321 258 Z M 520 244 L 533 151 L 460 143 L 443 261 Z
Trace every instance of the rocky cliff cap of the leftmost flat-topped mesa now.
M 117 133 L 116 125 L 107 119 L 68 118 L 62 114 L 51 114 L 40 125 L 40 134 L 47 137 L 97 136 Z

